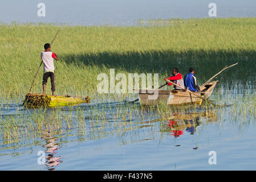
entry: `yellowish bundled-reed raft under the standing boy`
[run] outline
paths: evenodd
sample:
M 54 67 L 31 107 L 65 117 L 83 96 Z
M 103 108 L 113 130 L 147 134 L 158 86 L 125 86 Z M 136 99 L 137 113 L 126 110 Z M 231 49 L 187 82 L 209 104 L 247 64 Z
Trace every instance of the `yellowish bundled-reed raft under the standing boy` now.
M 90 102 L 90 97 L 78 98 L 74 96 L 51 96 L 46 94 L 32 94 L 26 95 L 23 105 L 27 108 L 34 107 L 56 107 L 80 104 L 83 102 Z

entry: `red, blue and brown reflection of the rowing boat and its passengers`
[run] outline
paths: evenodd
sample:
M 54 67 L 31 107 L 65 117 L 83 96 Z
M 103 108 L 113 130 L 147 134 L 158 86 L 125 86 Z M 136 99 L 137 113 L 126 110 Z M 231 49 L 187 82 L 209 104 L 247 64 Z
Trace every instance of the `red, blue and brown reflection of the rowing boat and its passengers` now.
M 177 113 L 168 118 L 165 131 L 175 138 L 183 135 L 184 131 L 193 135 L 197 127 L 202 123 L 200 119 L 207 119 L 208 122 L 214 122 L 217 121 L 217 115 L 212 110 L 187 114 Z

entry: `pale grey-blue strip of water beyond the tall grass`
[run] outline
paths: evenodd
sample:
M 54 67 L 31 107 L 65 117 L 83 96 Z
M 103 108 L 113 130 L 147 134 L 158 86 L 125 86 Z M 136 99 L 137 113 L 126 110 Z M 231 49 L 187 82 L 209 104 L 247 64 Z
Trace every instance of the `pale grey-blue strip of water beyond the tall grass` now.
M 37 14 L 40 2 L 46 5 L 45 17 Z M 1 2 L 0 22 L 130 26 L 139 19 L 209 18 L 208 5 L 212 2 L 217 5 L 217 17 L 256 16 L 254 0 L 9 0 Z

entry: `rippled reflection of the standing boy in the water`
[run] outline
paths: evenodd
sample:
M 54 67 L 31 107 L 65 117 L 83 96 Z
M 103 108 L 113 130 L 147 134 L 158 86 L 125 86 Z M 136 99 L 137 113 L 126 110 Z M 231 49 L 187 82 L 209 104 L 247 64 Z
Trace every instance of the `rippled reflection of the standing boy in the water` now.
M 46 140 L 46 144 L 43 147 L 46 147 L 46 169 L 53 171 L 59 163 L 62 163 L 60 156 L 57 156 L 58 143 L 55 143 L 56 137 L 53 137 L 51 132 L 48 131 L 44 133 L 42 139 Z

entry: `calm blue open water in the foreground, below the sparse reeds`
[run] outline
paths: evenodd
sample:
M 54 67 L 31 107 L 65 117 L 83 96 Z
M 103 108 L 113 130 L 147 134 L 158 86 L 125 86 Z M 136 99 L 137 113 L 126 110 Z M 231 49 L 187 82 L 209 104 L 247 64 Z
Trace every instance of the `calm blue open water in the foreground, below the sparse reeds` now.
M 217 90 L 216 90 L 217 91 Z M 216 96 L 213 96 L 216 97 Z M 224 95 L 226 98 L 242 98 Z M 230 102 L 226 100 L 226 103 Z M 230 104 L 230 103 L 229 103 Z M 135 104 L 138 105 L 138 104 Z M 89 121 L 92 107 L 106 111 L 105 126 L 101 121 Z M 123 102 L 95 103 L 73 106 L 82 110 L 86 127 L 63 125 L 61 131 L 50 127 L 40 137 L 22 138 L 19 142 L 6 143 L 0 139 L 1 170 L 255 170 L 255 118 L 250 114 L 241 117 L 232 106 L 221 109 L 197 107 L 186 113 L 170 114 L 161 118 L 153 111 L 140 115 L 129 113 L 123 119 L 113 120 L 119 112 L 127 110 Z M 60 112 L 72 114 L 76 123 L 76 111 L 63 107 Z M 138 109 L 140 110 L 138 105 Z M 17 109 L 19 109 L 17 111 Z M 54 109 L 48 109 L 46 119 Z M 9 105 L 1 110 L 1 117 L 33 114 L 22 106 Z M 131 111 L 132 112 L 132 111 Z M 96 114 L 96 113 L 95 113 Z M 120 113 L 119 113 L 120 114 Z M 131 121 L 130 121 L 131 120 Z M 49 121 L 50 122 L 50 119 Z M 125 127 L 124 122 L 127 122 Z M 133 129 L 128 125 L 132 123 Z M 120 127 L 121 126 L 121 127 Z M 82 129 L 81 129 L 82 128 Z M 39 165 L 38 151 L 46 152 L 47 164 Z M 217 164 L 210 165 L 210 151 L 217 154 Z

